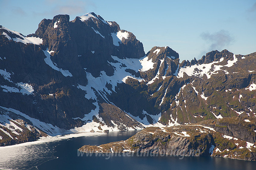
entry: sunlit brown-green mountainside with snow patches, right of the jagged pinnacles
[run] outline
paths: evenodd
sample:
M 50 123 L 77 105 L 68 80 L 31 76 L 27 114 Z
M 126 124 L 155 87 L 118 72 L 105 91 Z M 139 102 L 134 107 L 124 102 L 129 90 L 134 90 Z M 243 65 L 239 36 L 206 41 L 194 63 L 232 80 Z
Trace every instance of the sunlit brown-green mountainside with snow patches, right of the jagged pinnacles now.
M 163 110 L 162 117 L 168 120 L 169 115 L 172 115 L 174 120 L 178 117 L 178 122 L 184 124 L 235 115 L 254 116 L 255 92 L 252 86 L 255 73 L 247 61 L 254 63 L 251 60 L 255 57 L 254 54 L 234 55 L 223 50 L 208 53 L 207 56 L 212 60 L 209 64 L 207 61 L 206 64 L 184 66 L 183 61 L 183 66 L 181 64 L 173 81 L 184 82 L 178 85 L 180 89 L 173 95 L 167 90 L 165 96 L 167 100 L 170 99 L 171 106 L 170 109 Z M 205 60 L 205 56 L 202 59 Z M 160 121 L 168 124 L 165 120 Z

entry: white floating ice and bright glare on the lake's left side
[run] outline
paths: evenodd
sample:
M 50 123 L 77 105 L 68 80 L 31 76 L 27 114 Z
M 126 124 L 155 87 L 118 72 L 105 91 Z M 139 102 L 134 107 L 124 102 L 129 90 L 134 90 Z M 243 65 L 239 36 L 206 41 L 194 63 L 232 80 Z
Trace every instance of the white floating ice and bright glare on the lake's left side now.
M 66 136 L 55 136 L 43 140 L 26 142 L 18 145 L 0 147 L 0 169 L 37 169 L 37 167 L 52 159 L 55 148 L 62 142 L 75 137 L 106 135 L 105 133 L 79 133 Z M 77 146 L 79 147 L 79 146 Z

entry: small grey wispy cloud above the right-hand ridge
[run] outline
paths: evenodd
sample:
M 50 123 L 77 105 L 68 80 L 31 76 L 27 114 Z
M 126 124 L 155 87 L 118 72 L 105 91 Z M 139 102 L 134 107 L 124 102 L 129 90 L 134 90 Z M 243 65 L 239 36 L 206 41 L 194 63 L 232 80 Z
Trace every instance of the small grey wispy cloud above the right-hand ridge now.
M 234 41 L 233 37 L 229 34 L 229 31 L 220 30 L 215 33 L 204 32 L 201 34 L 203 40 L 209 43 L 208 51 L 223 50 L 230 43 Z

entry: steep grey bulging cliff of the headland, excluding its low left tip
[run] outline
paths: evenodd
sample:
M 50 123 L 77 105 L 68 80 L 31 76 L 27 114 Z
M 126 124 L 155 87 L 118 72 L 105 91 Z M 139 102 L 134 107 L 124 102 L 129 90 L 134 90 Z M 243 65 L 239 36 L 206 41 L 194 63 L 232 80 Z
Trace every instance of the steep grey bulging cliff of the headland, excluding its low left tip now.
M 211 147 L 211 134 L 201 136 L 200 140 L 191 141 L 190 135 L 183 134 L 185 129 L 180 128 L 180 132 L 176 132 L 174 135 L 169 134 L 165 128 L 155 129 L 151 128 L 150 131 L 142 131 L 131 137 L 127 142 L 130 142 L 132 151 L 133 148 L 141 148 L 140 152 L 158 152 L 164 154 L 177 154 L 183 156 L 205 156 L 209 154 Z M 151 133 L 150 133 L 151 132 Z M 149 133 L 149 134 L 148 134 Z

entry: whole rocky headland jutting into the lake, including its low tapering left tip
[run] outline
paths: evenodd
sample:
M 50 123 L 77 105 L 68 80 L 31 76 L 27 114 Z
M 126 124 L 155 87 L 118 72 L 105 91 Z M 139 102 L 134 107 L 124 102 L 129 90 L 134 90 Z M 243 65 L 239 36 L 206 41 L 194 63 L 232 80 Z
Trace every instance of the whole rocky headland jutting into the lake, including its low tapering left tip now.
M 189 134 L 185 133 L 186 130 L 189 130 Z M 196 137 L 191 136 L 191 134 Z M 209 155 L 212 142 L 214 142 L 212 134 L 202 133 L 198 135 L 197 132 L 193 132 L 192 128 L 189 127 L 148 127 L 126 141 L 103 144 L 97 148 L 85 145 L 79 150 L 83 152 L 108 153 L 113 151 L 177 156 L 207 156 Z

